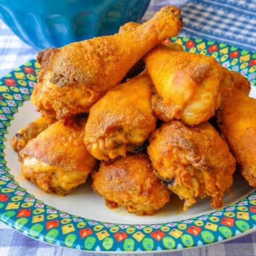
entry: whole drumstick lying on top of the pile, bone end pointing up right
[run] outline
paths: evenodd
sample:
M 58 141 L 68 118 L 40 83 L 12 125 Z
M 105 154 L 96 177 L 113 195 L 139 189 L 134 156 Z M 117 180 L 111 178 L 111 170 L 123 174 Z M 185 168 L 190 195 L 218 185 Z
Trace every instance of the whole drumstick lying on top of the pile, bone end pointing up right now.
M 145 53 L 178 35 L 183 26 L 180 14 L 177 7 L 165 6 L 132 31 L 39 52 L 42 70 L 32 95 L 38 111 L 53 121 L 88 112 Z

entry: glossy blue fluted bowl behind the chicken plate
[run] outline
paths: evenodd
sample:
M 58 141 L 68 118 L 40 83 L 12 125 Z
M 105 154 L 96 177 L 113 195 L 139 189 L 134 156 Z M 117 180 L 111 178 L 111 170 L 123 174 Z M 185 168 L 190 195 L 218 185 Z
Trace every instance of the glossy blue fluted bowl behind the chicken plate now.
M 42 50 L 117 33 L 139 22 L 150 0 L 1 0 L 0 18 L 27 44 Z

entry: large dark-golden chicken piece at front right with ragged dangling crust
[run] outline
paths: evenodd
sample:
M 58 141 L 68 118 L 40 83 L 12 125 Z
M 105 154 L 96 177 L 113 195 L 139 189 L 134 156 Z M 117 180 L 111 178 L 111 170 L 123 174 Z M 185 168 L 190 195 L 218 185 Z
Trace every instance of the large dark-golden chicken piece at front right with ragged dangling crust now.
M 211 206 L 221 207 L 233 183 L 235 159 L 228 145 L 209 123 L 186 127 L 180 121 L 156 130 L 148 147 L 159 177 L 180 199 L 184 211 L 196 197 L 211 196 Z

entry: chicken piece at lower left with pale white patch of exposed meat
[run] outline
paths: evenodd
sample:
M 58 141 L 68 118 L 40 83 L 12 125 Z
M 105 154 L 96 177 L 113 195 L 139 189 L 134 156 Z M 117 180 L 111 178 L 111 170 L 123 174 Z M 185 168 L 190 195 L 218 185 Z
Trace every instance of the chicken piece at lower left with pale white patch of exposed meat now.
M 96 164 L 83 143 L 86 119 L 56 122 L 20 151 L 21 171 L 47 193 L 66 195 L 86 181 Z

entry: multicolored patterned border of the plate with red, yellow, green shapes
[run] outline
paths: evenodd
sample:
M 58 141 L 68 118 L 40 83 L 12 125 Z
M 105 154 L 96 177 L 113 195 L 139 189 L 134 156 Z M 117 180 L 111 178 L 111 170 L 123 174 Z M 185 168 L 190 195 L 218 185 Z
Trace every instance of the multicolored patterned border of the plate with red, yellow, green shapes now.
M 172 38 L 187 51 L 210 54 L 255 85 L 256 54 L 202 39 Z M 255 229 L 256 191 L 239 202 L 196 218 L 156 225 L 84 219 L 45 205 L 15 181 L 4 159 L 5 134 L 14 113 L 29 100 L 39 72 L 36 60 L 0 80 L 0 220 L 30 237 L 87 251 L 165 251 L 211 244 Z

